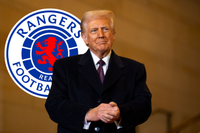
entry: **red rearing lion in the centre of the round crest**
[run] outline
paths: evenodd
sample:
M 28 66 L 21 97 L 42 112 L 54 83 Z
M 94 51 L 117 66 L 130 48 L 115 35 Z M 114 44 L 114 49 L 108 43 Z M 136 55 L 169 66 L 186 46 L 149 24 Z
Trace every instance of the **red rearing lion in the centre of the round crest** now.
M 62 45 L 62 41 L 59 41 L 59 43 L 57 44 L 57 50 L 58 50 L 58 54 L 56 55 L 57 58 L 52 54 L 52 52 L 55 52 L 54 49 L 56 48 L 56 38 L 55 37 L 48 37 L 46 40 L 44 40 L 44 44 L 47 45 L 46 47 L 43 47 L 41 45 L 40 42 L 37 42 L 37 47 L 39 47 L 42 51 L 37 51 L 35 52 L 36 55 L 41 55 L 41 54 L 45 54 L 42 55 L 42 60 L 38 59 L 37 62 L 39 64 L 47 64 L 48 63 L 53 66 L 54 62 L 57 60 L 58 56 L 60 56 L 61 58 L 63 57 L 61 51 L 64 51 L 63 49 L 60 49 L 60 45 Z M 49 71 L 52 71 L 53 68 L 49 67 L 48 68 Z

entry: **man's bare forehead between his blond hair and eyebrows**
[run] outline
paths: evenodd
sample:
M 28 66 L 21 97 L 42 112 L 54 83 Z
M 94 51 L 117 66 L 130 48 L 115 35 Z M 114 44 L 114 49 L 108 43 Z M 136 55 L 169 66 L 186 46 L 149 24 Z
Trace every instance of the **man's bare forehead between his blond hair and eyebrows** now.
M 110 22 L 107 18 L 96 18 L 88 21 L 88 28 L 110 27 Z

